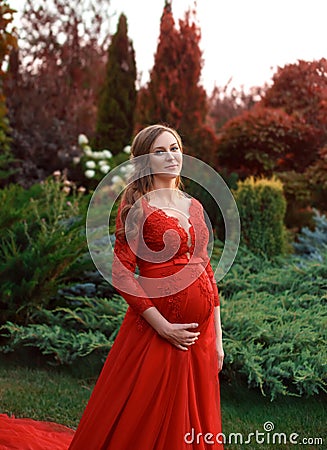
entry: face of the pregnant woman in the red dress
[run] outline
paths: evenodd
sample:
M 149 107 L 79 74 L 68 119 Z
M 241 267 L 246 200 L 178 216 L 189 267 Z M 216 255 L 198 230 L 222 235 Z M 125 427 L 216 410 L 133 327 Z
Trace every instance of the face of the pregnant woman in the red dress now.
M 175 136 L 164 131 L 154 141 L 150 150 L 152 174 L 176 178 L 182 169 L 182 155 Z

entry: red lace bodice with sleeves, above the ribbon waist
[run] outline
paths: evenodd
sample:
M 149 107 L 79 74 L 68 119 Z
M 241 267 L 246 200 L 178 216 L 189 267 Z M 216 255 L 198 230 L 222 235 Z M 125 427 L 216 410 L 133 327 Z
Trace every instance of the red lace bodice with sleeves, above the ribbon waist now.
M 191 259 L 201 258 L 212 285 L 212 290 L 210 290 L 213 291 L 214 304 L 219 306 L 218 289 L 207 252 L 209 231 L 204 220 L 201 203 L 195 198 L 191 198 L 188 230 L 180 224 L 178 218 L 166 214 L 160 208 L 150 206 L 145 199 L 142 199 L 141 205 L 144 212 L 144 244 L 140 245 L 138 239 L 130 246 L 125 238 L 118 237 L 116 233 L 112 282 L 117 291 L 135 312 L 142 314 L 154 305 L 135 278 L 136 266 L 142 274 L 143 271 L 162 261 L 172 261 L 183 257 L 187 257 L 187 259 L 188 257 Z M 121 206 L 118 208 L 116 230 L 122 227 Z M 137 248 L 137 251 L 134 252 L 131 247 Z M 126 291 L 122 289 L 123 286 Z

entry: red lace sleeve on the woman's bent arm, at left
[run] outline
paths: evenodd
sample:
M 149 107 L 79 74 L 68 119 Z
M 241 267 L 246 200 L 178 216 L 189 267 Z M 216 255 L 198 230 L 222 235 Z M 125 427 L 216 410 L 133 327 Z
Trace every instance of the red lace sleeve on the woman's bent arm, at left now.
M 117 230 L 122 227 L 120 218 L 121 205 L 116 219 L 116 241 L 112 263 L 112 283 L 119 294 L 126 300 L 133 310 L 142 314 L 146 309 L 154 306 L 150 298 L 135 278 L 137 258 L 127 240 L 117 236 Z M 133 293 L 133 294 L 131 294 Z

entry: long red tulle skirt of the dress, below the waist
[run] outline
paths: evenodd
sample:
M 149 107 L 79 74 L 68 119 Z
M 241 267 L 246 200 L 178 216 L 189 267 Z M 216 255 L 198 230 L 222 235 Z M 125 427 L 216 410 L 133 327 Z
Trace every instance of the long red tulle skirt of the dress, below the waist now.
M 168 289 L 154 305 L 171 322 L 197 322 L 198 341 L 179 350 L 129 308 L 70 450 L 223 449 L 212 288 L 205 271 L 189 270 L 194 281 L 177 294 L 157 281 L 143 288 Z

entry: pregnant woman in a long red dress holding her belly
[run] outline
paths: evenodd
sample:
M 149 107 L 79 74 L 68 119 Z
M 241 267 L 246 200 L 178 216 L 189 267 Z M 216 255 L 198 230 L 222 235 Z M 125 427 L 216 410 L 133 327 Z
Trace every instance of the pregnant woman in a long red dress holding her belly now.
M 203 208 L 180 189 L 175 130 L 143 129 L 131 155 L 148 157 L 139 167 L 136 158 L 122 196 L 112 269 L 129 308 L 70 449 L 223 449 L 224 352 Z

